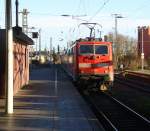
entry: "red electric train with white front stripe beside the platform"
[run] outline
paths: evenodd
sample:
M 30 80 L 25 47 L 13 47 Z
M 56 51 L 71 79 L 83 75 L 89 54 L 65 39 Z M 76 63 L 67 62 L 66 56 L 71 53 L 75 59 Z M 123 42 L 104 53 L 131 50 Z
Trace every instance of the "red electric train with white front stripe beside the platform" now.
M 93 82 L 100 90 L 108 90 L 114 80 L 112 43 L 91 35 L 76 40 L 67 55 L 64 55 L 65 69 L 76 82 Z

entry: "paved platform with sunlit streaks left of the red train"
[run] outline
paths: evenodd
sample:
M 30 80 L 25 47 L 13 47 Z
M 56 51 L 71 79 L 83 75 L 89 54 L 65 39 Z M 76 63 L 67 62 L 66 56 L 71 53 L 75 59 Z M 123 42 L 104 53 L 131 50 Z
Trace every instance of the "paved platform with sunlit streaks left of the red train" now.
M 0 131 L 104 131 L 66 74 L 58 67 L 36 68 L 30 83 L 14 96 L 14 114 L 4 115 Z

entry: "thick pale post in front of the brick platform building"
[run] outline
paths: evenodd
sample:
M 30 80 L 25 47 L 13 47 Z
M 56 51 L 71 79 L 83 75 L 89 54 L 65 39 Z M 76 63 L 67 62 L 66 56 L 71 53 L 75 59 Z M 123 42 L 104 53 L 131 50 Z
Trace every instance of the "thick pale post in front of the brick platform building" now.
M 12 31 L 12 5 L 11 0 L 5 1 L 5 27 L 6 27 L 6 61 L 5 61 L 5 113 L 13 113 L 13 31 Z

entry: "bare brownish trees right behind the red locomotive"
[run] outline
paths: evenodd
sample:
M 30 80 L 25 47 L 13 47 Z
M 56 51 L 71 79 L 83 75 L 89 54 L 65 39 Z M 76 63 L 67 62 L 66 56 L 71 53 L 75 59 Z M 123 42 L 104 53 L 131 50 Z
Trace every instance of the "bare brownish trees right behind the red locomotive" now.
M 118 34 L 116 40 L 113 39 L 114 34 L 108 34 L 108 41 L 113 43 L 113 57 L 115 69 L 119 69 L 119 65 L 123 64 L 126 68 L 137 68 L 139 66 L 137 55 L 137 40 Z

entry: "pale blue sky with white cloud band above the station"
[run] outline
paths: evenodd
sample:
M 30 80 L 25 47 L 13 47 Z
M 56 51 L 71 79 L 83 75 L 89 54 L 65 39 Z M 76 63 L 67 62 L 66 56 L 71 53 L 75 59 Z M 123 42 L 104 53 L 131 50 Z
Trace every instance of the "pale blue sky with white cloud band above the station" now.
M 4 27 L 4 1 L 0 0 L 0 26 Z M 106 2 L 105 6 L 104 2 Z M 12 0 L 15 14 L 15 0 Z M 150 0 L 19 0 L 19 10 L 28 9 L 29 26 L 42 29 L 42 47 L 49 47 L 50 37 L 53 45 L 66 46 L 69 40 L 87 35 L 84 27 L 78 28 L 81 20 L 98 22 L 102 25 L 102 35 L 114 32 L 114 18 L 111 14 L 121 14 L 118 19 L 118 32 L 124 35 L 137 36 L 137 26 L 150 25 Z M 99 12 L 98 12 L 99 11 Z M 62 17 L 62 14 L 85 17 Z M 95 15 L 96 14 L 96 15 Z M 15 24 L 13 15 L 13 25 Z M 21 26 L 21 16 L 20 16 Z M 60 39 L 63 38 L 63 41 Z

